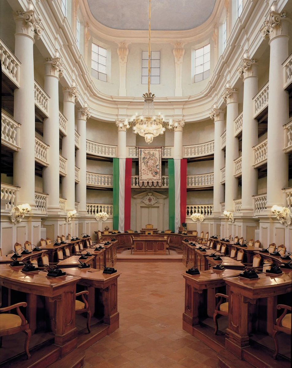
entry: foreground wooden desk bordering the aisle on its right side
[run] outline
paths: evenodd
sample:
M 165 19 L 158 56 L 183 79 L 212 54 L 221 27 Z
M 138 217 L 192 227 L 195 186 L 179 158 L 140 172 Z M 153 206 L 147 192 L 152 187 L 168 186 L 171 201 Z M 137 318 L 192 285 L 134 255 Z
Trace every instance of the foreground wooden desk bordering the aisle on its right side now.
M 225 286 L 225 277 L 236 276 L 239 272 L 207 270 L 200 272 L 200 275 L 182 274 L 185 279 L 185 311 L 182 315 L 182 328 L 185 331 L 195 336 L 193 326 L 199 325 L 199 319 L 206 315 L 213 318 L 216 307 L 215 294 L 219 292 L 218 288 Z M 205 303 L 204 300 L 206 300 Z

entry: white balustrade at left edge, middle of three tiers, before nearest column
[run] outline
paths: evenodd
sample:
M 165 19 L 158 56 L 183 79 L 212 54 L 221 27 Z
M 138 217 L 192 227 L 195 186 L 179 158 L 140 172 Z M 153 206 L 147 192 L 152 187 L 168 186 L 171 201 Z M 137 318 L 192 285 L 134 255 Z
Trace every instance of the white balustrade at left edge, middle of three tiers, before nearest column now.
M 20 124 L 1 110 L 1 143 L 19 151 Z

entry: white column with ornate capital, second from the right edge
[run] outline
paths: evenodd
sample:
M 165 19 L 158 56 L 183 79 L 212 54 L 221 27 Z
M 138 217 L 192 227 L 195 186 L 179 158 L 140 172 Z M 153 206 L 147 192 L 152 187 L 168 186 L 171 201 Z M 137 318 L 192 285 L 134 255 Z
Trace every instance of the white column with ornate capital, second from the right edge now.
M 257 195 L 257 170 L 253 168 L 253 146 L 258 143 L 257 120 L 253 118 L 253 97 L 258 92 L 257 64 L 254 59 L 242 60 L 239 74 L 243 77 L 242 113 L 242 204 L 241 212 L 253 216 L 253 195 Z

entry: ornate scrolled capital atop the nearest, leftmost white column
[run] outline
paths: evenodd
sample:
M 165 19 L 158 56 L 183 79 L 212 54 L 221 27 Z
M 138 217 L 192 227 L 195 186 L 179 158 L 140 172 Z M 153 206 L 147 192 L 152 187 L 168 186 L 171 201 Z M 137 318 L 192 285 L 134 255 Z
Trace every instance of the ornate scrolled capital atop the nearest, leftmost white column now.
M 42 21 L 40 18 L 36 17 L 31 3 L 28 10 L 17 10 L 16 14 L 14 15 L 14 20 L 22 20 L 22 25 L 17 26 L 16 28 L 17 33 L 23 33 L 32 39 L 36 38 L 38 40 L 40 38 L 44 28 L 41 24 Z

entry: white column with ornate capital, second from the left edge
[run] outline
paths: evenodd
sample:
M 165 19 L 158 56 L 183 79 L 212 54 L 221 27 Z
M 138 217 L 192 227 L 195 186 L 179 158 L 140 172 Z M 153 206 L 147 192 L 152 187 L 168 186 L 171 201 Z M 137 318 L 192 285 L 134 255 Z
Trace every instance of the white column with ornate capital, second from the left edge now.
M 58 54 L 47 57 L 44 63 L 44 89 L 50 96 L 49 117 L 44 119 L 44 142 L 50 146 L 49 166 L 43 169 L 43 191 L 49 193 L 47 210 L 52 214 L 58 213 L 59 206 L 59 76 L 63 77 L 64 64 Z

